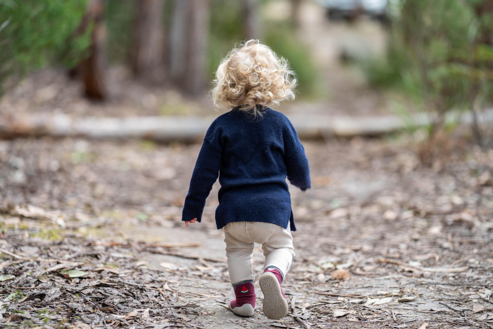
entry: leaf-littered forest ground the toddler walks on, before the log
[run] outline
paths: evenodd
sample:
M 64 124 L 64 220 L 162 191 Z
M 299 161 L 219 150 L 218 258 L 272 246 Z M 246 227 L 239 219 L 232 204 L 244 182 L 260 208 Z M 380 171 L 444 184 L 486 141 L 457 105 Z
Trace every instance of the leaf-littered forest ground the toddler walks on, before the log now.
M 200 146 L 48 138 L 1 142 L 0 218 L 6 231 L 0 236 L 0 266 L 16 277 L 2 286 L 23 273 L 33 275 L 0 297 L 16 290 L 23 298 L 46 293 L 42 301 L 20 304 L 12 297 L 2 325 L 28 320 L 50 326 L 83 322 L 91 328 L 493 324 L 491 301 L 481 299 L 493 294 L 491 155 L 472 149 L 468 162 L 453 157 L 437 171 L 421 166 L 405 139 L 304 145 L 313 188 L 301 192 L 290 186 L 298 231 L 283 284 L 295 310 L 271 321 L 261 312 L 257 282 L 254 317 L 239 318 L 223 307 L 233 292 L 223 233 L 213 219 L 218 184 L 202 223 L 185 227 L 180 221 Z M 52 213 L 6 210 L 7 203 Z M 66 228 L 49 220 L 59 218 L 66 219 Z M 256 248 L 257 275 L 262 263 Z M 65 278 L 63 269 L 85 274 Z M 404 296 L 409 301 L 398 301 Z

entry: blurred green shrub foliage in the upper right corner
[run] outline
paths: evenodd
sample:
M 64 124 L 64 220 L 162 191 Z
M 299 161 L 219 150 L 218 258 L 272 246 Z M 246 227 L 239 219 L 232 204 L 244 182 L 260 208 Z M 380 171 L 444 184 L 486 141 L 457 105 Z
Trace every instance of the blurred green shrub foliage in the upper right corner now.
M 385 60 L 365 65 L 370 84 L 402 88 L 443 117 L 488 98 L 493 86 L 493 12 L 486 0 L 402 0 Z

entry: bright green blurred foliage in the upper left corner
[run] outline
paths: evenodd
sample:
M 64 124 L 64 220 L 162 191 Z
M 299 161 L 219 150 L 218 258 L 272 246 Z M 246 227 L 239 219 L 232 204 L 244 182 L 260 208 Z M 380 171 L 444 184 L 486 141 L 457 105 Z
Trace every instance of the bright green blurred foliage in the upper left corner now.
M 62 57 L 76 63 L 88 35 L 70 39 L 87 0 L 1 0 L 0 76 L 42 68 Z M 68 55 L 68 56 L 65 56 Z

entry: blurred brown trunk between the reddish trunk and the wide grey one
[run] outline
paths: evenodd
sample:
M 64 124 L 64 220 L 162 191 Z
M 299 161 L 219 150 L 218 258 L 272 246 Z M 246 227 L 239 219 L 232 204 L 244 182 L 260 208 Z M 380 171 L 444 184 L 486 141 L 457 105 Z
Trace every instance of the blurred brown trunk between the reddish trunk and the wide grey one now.
M 164 0 L 137 0 L 132 69 L 147 81 L 162 77 Z

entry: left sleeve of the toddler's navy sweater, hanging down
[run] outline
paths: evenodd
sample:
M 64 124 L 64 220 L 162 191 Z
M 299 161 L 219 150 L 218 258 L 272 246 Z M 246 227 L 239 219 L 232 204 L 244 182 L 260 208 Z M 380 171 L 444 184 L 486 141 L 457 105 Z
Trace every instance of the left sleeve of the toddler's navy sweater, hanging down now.
M 211 126 L 200 149 L 185 198 L 181 220 L 197 218 L 200 222 L 206 199 L 221 169 L 222 148 L 218 132 Z

